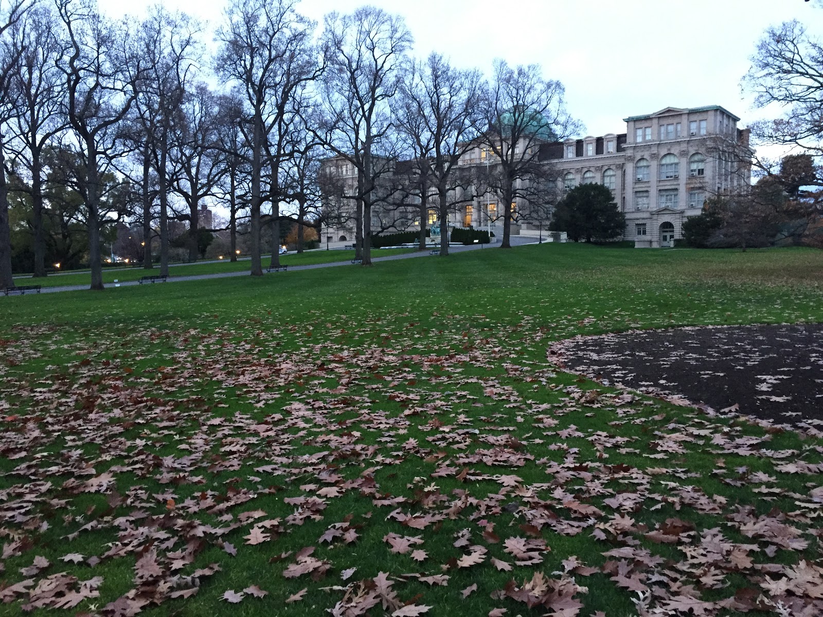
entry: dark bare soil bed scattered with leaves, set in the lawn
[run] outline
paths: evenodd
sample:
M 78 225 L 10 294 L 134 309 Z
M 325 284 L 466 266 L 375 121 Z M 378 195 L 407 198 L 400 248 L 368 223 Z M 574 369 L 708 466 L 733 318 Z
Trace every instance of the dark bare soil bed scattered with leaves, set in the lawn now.
M 781 423 L 823 420 L 823 324 L 577 337 L 552 346 L 549 359 L 607 385 L 715 411 Z

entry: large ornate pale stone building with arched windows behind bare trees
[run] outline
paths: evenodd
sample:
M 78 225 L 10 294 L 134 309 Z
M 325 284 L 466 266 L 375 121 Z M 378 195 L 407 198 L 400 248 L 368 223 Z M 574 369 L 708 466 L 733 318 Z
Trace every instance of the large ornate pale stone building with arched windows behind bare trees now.
M 625 118 L 625 132 L 607 133 L 602 137 L 584 137 L 566 141 L 542 141 L 537 160 L 550 165 L 556 178 L 553 198 L 581 183 L 602 183 L 614 194 L 615 202 L 625 213 L 623 239 L 634 240 L 636 247 L 672 246 L 681 238 L 683 222 L 698 216 L 704 201 L 712 195 L 726 193 L 751 183 L 749 130 L 737 128 L 736 115 L 718 105 L 680 109 L 667 107 L 654 114 Z M 743 154 L 743 155 L 742 155 Z M 407 167 L 405 161 L 397 169 Z M 495 158 L 478 145 L 467 151 L 458 169 L 476 165 L 495 165 Z M 342 157 L 323 162 L 324 173 L 336 177 L 344 194 L 356 188 L 356 173 Z M 388 180 L 387 180 L 388 181 Z M 475 194 L 449 216 L 450 227 L 467 227 L 502 232 L 502 207 L 490 193 Z M 545 236 L 544 221 L 527 222 L 518 212 L 526 204 L 514 203 L 511 233 Z M 354 201 L 338 198 L 342 211 L 353 211 Z M 412 202 L 401 206 L 374 208 L 372 222 L 393 216 L 393 230 L 419 229 L 419 206 Z M 383 217 L 383 218 L 381 218 Z M 326 229 L 334 241 L 353 242 L 353 216 Z M 429 211 L 427 223 L 436 224 L 437 212 Z

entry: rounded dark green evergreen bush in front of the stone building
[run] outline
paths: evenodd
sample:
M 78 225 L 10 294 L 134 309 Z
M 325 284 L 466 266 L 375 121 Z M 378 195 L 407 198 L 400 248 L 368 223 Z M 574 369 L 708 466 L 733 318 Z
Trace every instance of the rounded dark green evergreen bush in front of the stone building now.
M 570 240 L 611 240 L 625 230 L 625 216 L 602 184 L 580 184 L 557 204 L 549 229 L 565 231 Z

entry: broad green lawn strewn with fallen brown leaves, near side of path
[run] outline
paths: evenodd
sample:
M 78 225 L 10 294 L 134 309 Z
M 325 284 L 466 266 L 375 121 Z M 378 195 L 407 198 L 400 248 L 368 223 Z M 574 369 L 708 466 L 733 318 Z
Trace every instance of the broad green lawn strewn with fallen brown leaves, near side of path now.
M 820 427 L 546 347 L 821 322 L 821 275 L 543 244 L 0 299 L 0 614 L 819 615 Z

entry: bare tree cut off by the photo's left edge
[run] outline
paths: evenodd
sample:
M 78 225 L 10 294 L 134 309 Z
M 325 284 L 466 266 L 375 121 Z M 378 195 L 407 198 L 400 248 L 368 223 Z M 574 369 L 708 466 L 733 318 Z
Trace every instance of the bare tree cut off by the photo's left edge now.
M 30 10 L 26 0 L 0 0 L 0 289 L 14 286 L 12 276 L 12 234 L 8 224 L 8 184 L 6 179 L 6 142 L 3 128 L 17 111 L 16 91 L 12 86 L 12 75 L 24 51 L 12 44 L 8 30 Z

